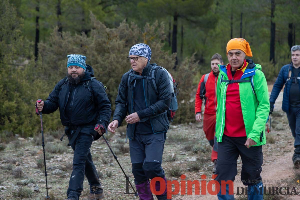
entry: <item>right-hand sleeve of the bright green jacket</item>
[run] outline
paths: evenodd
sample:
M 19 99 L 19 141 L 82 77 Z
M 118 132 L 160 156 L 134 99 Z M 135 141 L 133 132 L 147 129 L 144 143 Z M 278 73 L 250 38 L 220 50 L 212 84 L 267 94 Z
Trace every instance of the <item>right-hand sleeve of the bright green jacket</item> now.
M 256 143 L 259 143 L 260 136 L 265 130 L 265 123 L 270 111 L 268 85 L 265 75 L 261 70 L 256 71 L 256 75 L 253 77 L 253 83 L 256 99 L 258 101 L 258 107 L 255 114 L 256 119 L 248 138 L 251 138 Z

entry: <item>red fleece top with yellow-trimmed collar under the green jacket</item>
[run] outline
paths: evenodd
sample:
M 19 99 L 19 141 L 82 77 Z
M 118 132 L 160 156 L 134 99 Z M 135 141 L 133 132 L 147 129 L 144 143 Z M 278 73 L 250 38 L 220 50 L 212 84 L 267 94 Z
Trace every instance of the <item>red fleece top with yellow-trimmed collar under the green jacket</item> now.
M 231 66 L 228 63 L 226 66 L 228 80 L 241 79 L 248 63 L 244 60 L 243 67 L 236 70 L 233 78 L 231 74 Z M 227 86 L 226 103 L 225 103 L 225 128 L 224 134 L 229 137 L 244 137 L 246 136 L 245 124 L 241 108 L 241 100 L 239 93 L 239 83 L 232 83 Z

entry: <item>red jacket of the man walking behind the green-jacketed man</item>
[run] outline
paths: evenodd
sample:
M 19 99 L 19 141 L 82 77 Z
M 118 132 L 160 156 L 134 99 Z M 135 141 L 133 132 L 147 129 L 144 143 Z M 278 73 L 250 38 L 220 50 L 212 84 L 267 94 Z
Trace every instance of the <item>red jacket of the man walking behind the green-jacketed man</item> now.
M 196 92 L 195 114 L 197 112 L 201 112 L 201 106 L 204 98 L 204 113 L 215 115 L 217 110 L 217 77 L 214 75 L 213 71 L 211 71 L 208 75 L 206 84 L 204 85 L 204 76 L 205 74 L 201 77 Z

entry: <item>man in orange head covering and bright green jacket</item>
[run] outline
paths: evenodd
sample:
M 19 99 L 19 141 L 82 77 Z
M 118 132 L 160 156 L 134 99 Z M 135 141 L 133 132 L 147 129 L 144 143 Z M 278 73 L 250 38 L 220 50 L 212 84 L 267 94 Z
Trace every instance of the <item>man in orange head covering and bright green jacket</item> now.
M 248 200 L 263 199 L 262 145 L 270 104 L 265 75 L 253 60 L 249 43 L 233 38 L 227 43 L 229 63 L 220 66 L 217 79 L 216 138 L 218 142 L 215 174 L 221 189 L 218 199 L 234 199 L 233 184 L 236 161 L 241 156 L 241 181 L 248 187 Z M 223 182 L 223 184 L 222 184 Z M 226 190 L 226 191 L 225 191 Z

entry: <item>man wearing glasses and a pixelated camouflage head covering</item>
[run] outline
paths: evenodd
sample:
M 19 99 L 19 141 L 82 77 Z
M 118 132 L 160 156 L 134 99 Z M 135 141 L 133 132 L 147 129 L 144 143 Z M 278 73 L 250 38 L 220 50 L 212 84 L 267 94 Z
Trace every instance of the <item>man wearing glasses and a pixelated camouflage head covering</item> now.
M 160 68 L 153 70 L 150 64 L 151 49 L 139 43 L 131 47 L 129 56 L 132 69 L 126 72 L 119 85 L 116 110 L 108 130 L 115 133 L 122 121 L 128 123 L 132 173 L 140 199 L 153 199 L 149 179 L 161 177 L 167 183 L 161 167 L 169 121 L 166 110 L 170 107 L 171 87 L 167 73 Z M 155 74 L 155 85 L 151 73 Z M 127 115 L 128 113 L 128 115 Z M 160 191 L 160 182 L 155 189 Z M 159 200 L 167 199 L 167 188 Z

